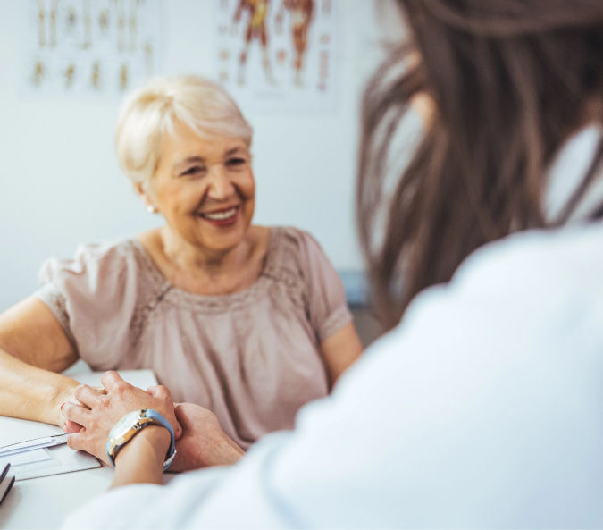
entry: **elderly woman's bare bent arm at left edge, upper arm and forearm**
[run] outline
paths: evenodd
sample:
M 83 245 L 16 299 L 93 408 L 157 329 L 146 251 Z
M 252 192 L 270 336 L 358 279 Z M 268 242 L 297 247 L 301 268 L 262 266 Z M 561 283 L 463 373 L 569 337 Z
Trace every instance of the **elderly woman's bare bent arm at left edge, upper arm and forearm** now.
M 44 302 L 29 297 L 0 315 L 0 416 L 63 426 L 78 383 L 61 372 L 78 355 Z

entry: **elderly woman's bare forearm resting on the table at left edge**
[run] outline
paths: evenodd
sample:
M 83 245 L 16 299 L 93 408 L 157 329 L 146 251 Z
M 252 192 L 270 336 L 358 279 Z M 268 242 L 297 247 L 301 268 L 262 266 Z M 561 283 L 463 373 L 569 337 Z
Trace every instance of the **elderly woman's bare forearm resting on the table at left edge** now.
M 61 405 L 73 398 L 78 382 L 30 366 L 0 349 L 0 416 L 63 425 Z

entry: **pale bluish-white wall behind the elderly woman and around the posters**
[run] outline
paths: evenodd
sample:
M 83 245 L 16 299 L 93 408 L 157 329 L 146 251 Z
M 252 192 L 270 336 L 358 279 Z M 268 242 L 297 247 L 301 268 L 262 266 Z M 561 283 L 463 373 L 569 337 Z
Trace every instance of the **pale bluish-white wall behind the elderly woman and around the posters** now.
M 0 310 L 38 286 L 49 256 L 135 234 L 144 211 L 113 154 L 119 102 L 19 95 L 21 0 L 0 0 Z M 376 64 L 370 0 L 339 0 L 340 97 L 327 116 L 247 115 L 256 223 L 304 228 L 339 269 L 362 268 L 354 222 L 358 103 Z M 211 3 L 165 2 L 163 72 L 211 76 Z

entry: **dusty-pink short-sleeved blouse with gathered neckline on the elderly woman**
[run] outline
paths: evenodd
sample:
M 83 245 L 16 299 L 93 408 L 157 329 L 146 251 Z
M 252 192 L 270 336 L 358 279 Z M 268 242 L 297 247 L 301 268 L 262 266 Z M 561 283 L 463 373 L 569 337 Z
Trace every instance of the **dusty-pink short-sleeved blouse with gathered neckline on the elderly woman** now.
M 234 294 L 172 287 L 136 239 L 48 259 L 40 282 L 36 295 L 89 366 L 151 368 L 174 401 L 212 410 L 243 449 L 327 395 L 320 345 L 352 319 L 328 258 L 294 228 L 271 229 L 262 273 Z

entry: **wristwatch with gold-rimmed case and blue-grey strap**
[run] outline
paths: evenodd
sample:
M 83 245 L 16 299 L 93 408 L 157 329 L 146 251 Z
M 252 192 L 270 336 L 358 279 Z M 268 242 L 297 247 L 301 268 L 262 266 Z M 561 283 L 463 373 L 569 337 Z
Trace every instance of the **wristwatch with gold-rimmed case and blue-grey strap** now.
M 161 425 L 170 432 L 170 449 L 168 449 L 168 452 L 165 455 L 163 471 L 170 467 L 172 460 L 176 456 L 174 431 L 170 422 L 156 410 L 151 408 L 134 410 L 133 412 L 130 412 L 130 414 L 126 414 L 126 416 L 123 416 L 121 420 L 113 426 L 113 429 L 111 429 L 106 443 L 106 450 L 109 462 L 113 467 L 115 467 L 115 458 L 121 448 L 126 443 L 130 442 L 130 440 L 147 425 Z

